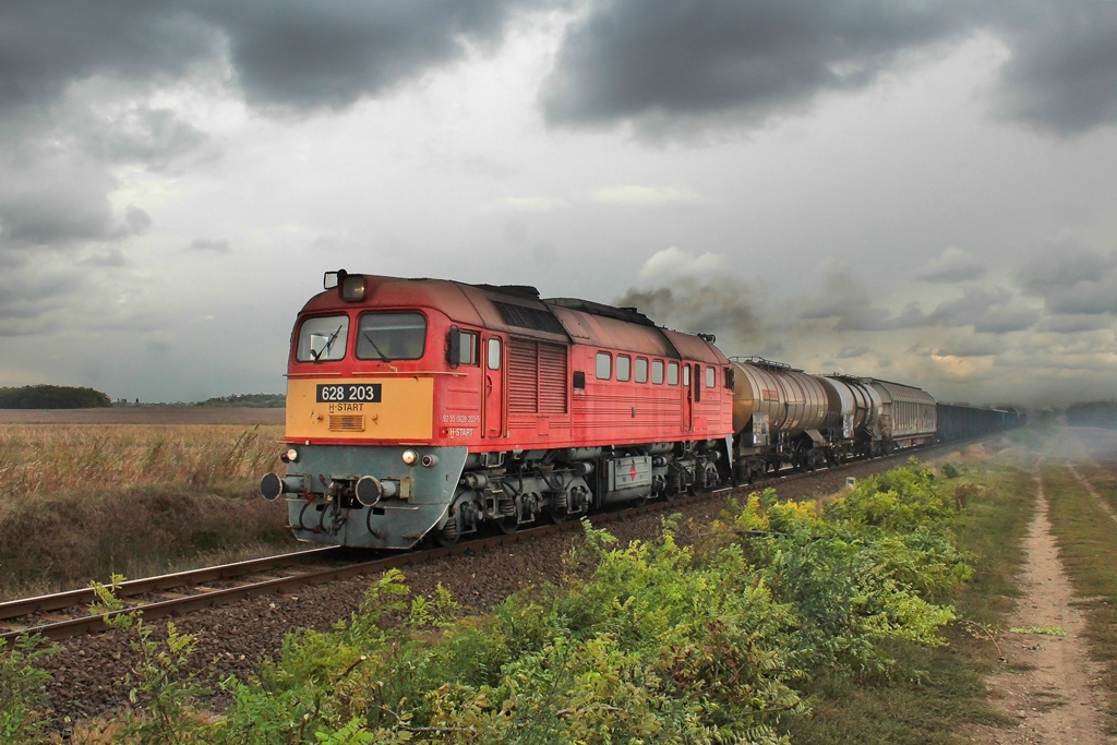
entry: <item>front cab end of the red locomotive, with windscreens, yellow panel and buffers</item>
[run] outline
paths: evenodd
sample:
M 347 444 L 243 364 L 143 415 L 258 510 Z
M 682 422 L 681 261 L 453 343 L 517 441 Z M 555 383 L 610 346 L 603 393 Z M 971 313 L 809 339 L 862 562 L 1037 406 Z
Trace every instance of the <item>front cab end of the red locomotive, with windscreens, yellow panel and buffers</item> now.
M 373 277 L 330 273 L 324 287 L 292 338 L 286 475 L 260 493 L 287 497 L 300 539 L 407 548 L 445 519 L 465 467 L 468 448 L 446 440 L 468 428 L 439 431 L 435 410 L 449 374 L 469 378 L 471 337 L 419 296 L 379 297 Z

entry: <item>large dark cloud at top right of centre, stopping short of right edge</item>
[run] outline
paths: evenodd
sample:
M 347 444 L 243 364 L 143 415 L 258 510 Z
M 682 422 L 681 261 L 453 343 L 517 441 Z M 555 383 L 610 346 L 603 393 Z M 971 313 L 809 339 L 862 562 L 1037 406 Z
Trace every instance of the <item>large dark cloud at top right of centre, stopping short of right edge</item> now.
M 543 92 L 556 123 L 739 109 L 767 116 L 861 87 L 905 49 L 964 28 L 964 6 L 896 0 L 598 0 Z

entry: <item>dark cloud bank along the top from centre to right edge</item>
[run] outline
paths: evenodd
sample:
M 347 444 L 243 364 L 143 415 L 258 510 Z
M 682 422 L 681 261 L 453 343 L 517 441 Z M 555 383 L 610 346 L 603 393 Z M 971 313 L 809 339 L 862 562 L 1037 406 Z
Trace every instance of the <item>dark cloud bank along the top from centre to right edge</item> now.
M 732 113 L 755 125 L 987 30 L 1012 51 L 997 109 L 1076 134 L 1117 120 L 1115 19 L 1102 0 L 594 0 L 542 101 L 553 124 L 661 134 Z

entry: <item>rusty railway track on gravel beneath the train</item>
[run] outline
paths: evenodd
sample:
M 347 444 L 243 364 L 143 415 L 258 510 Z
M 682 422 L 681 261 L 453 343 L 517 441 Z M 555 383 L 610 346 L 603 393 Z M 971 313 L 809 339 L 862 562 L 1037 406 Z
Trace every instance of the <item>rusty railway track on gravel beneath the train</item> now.
M 922 449 L 919 455 L 932 455 L 938 448 L 956 447 L 957 445 L 958 442 L 932 446 Z M 910 455 L 914 453 L 901 451 L 888 456 L 886 459 L 907 458 Z M 595 525 L 605 525 L 649 513 L 670 512 L 690 502 L 715 497 L 724 498 L 733 491 L 748 493 L 757 488 L 779 487 L 781 484 L 809 478 L 817 474 L 842 470 L 863 462 L 866 461 L 851 461 L 838 469 L 822 471 L 789 472 L 757 484 L 722 488 L 701 495 L 680 496 L 671 500 L 653 502 L 617 512 L 596 513 L 592 519 Z M 40 634 L 46 639 L 57 641 L 104 631 L 108 628 L 107 619 L 136 610 L 142 611 L 146 620 L 183 615 L 233 603 L 246 598 L 285 593 L 298 586 L 323 584 L 361 574 L 379 574 L 389 569 L 413 566 L 443 556 L 486 552 L 497 546 L 523 543 L 552 533 L 579 529 L 579 520 L 570 520 L 508 535 L 469 541 L 455 546 L 381 555 L 374 558 L 367 558 L 367 554 L 354 558 L 353 552 L 327 546 L 132 580 L 121 583 L 115 589 L 115 594 L 124 602 L 124 608 L 103 614 L 90 610 L 92 604 L 97 600 L 92 589 L 13 600 L 0 603 L 0 639 Z

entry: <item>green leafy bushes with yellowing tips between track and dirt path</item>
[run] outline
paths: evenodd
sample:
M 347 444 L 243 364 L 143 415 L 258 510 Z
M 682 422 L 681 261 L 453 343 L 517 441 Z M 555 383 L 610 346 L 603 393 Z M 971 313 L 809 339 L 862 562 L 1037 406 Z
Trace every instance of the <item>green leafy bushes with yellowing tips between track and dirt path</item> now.
M 293 632 L 251 679 L 226 680 L 233 703 L 216 720 L 197 716 L 188 685 L 173 696 L 147 685 L 182 668 L 190 638 L 172 629 L 163 653 L 141 637 L 136 690 L 161 719 L 126 733 L 261 745 L 786 742 L 781 719 L 805 710 L 811 678 L 887 671 L 897 643 L 941 643 L 953 609 L 934 596 L 968 576 L 948 529 L 954 502 L 927 471 L 870 481 L 822 513 L 751 495 L 695 548 L 676 544 L 674 520 L 624 547 L 585 523 L 562 583 L 484 618 L 459 618 L 441 588 L 409 608 L 390 571 L 347 621 Z

